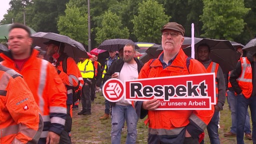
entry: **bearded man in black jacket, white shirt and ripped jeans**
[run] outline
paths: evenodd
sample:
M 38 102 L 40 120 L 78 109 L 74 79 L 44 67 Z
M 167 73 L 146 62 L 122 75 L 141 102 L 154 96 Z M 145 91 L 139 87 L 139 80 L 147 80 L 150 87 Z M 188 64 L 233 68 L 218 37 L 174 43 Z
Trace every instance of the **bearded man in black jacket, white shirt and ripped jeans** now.
M 135 46 L 126 44 L 123 47 L 123 58 L 114 61 L 105 74 L 105 79 L 119 78 L 121 81 L 127 79 L 136 79 L 143 64 L 134 57 Z M 119 74 L 117 74 L 119 73 Z M 127 123 L 126 143 L 136 143 L 136 127 L 138 116 L 131 105 L 131 101 L 124 100 L 124 97 L 112 104 L 112 143 L 120 143 L 121 129 L 124 121 Z

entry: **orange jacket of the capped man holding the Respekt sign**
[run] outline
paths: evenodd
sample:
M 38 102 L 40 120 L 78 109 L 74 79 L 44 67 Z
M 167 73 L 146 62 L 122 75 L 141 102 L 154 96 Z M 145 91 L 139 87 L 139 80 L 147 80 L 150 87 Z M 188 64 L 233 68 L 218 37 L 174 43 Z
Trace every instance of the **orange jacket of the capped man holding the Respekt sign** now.
M 204 66 L 195 59 L 190 59 L 188 72 L 186 67 L 186 58 L 187 56 L 180 48 L 175 59 L 169 66 L 165 68 L 163 68 L 159 57 L 156 58 L 153 62 L 151 62 L 151 59 L 144 64 L 139 72 L 138 78 L 174 76 L 189 73 L 196 74 L 207 72 Z M 135 103 L 133 104 L 136 105 Z M 137 107 L 135 108 L 137 110 Z M 148 139 L 150 139 L 151 135 L 163 135 L 163 137 L 178 135 L 184 128 L 186 128 L 187 131 L 192 135 L 195 133 L 195 131 L 198 130 L 193 129 L 192 127 L 197 127 L 200 129 L 200 132 L 196 132 L 196 136 L 198 136 L 201 132 L 203 132 L 203 129 L 206 128 L 213 115 L 213 112 L 213 105 L 211 110 L 148 110 L 148 119 L 145 121 L 149 123 Z M 188 128 L 188 125 L 193 126 L 189 126 Z

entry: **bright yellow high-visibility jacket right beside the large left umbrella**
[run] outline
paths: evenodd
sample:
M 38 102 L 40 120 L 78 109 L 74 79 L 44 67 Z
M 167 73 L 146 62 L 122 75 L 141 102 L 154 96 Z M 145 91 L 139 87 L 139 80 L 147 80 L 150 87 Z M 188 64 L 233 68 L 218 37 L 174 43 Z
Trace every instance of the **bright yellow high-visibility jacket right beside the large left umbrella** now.
M 94 68 L 91 60 L 89 58 L 84 61 L 79 61 L 77 66 L 81 72 L 82 78 L 93 78 L 94 77 Z

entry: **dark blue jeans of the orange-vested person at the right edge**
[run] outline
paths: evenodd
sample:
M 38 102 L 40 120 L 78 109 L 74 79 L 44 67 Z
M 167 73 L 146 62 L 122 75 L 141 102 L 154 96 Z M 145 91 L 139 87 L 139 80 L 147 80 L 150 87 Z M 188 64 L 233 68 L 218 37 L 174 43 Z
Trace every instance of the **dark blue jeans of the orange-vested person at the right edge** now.
M 256 143 L 256 95 L 251 95 L 250 98 L 245 98 L 243 94 L 237 95 L 237 109 L 236 109 L 236 141 L 243 144 L 243 129 L 246 119 L 246 111 L 250 108 L 251 121 L 252 121 L 252 141 Z

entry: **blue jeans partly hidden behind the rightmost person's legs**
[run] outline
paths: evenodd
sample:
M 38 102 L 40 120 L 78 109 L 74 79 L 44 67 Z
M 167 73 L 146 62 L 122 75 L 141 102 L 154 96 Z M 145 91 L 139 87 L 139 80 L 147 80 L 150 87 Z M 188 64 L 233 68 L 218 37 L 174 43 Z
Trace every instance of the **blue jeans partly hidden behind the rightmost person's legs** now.
M 231 110 L 231 127 L 230 131 L 236 133 L 236 106 L 237 106 L 237 96 L 234 95 L 234 91 L 227 91 L 227 98 L 229 101 L 229 106 Z M 246 110 L 246 118 L 244 123 L 244 133 L 250 133 L 250 117 L 248 109 Z

